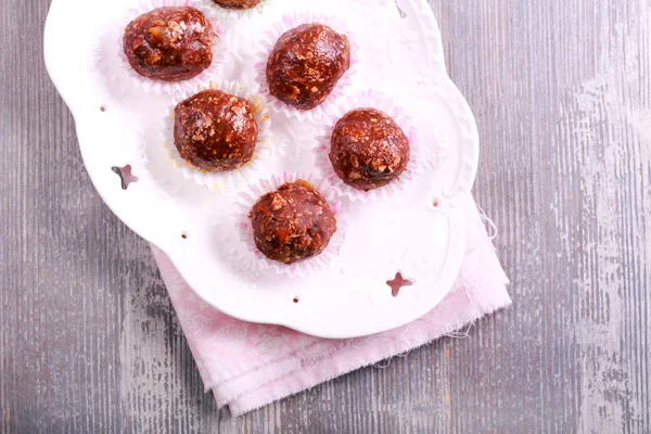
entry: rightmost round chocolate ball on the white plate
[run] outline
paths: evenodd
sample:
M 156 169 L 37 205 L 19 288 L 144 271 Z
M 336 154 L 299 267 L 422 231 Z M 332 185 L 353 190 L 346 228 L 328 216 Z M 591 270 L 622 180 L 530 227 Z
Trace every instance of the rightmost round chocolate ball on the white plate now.
M 397 179 L 409 162 L 409 140 L 385 113 L 348 112 L 335 125 L 330 162 L 336 175 L 357 190 L 369 191 Z

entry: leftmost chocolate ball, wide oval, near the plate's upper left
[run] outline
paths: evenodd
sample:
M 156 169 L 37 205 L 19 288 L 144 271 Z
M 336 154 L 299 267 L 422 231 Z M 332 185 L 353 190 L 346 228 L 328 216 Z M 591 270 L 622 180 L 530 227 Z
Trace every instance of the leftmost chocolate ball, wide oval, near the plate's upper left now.
M 123 38 L 129 64 L 144 77 L 181 81 L 213 63 L 217 35 L 203 13 L 190 7 L 154 9 L 127 25 Z

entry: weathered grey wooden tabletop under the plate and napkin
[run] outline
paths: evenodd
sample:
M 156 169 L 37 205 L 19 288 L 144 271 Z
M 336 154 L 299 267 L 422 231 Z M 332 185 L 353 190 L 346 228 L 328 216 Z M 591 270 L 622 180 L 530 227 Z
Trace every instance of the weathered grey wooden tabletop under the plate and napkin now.
M 0 432 L 651 433 L 651 1 L 433 0 L 514 307 L 233 419 L 0 0 Z

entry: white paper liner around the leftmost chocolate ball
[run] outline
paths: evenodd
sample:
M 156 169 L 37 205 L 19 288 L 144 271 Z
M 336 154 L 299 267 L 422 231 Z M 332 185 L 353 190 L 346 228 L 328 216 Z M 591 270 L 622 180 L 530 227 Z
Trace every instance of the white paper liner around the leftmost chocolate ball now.
M 163 80 L 153 80 L 151 78 L 144 77 L 136 72 L 129 64 L 127 60 L 127 55 L 124 51 L 124 29 L 127 25 L 136 20 L 138 16 L 148 13 L 156 8 L 163 7 L 192 7 L 200 10 L 209 21 L 213 23 L 213 27 L 215 33 L 217 34 L 217 43 L 213 48 L 213 63 L 208 68 L 203 71 L 196 77 L 193 77 L 189 80 L 183 81 L 163 81 Z M 226 53 L 228 51 L 228 46 L 226 38 L 224 37 L 222 27 L 220 25 L 221 20 L 219 15 L 215 12 L 214 8 L 205 8 L 201 0 L 141 0 L 137 2 L 132 8 L 130 8 L 124 18 L 122 20 L 120 31 L 118 33 L 117 40 L 117 53 L 120 59 L 122 68 L 126 72 L 126 74 L 131 78 L 133 85 L 140 87 L 145 92 L 151 92 L 155 94 L 178 94 L 192 90 L 196 86 L 201 84 L 206 84 L 210 79 L 215 79 L 219 75 L 220 65 L 226 58 Z

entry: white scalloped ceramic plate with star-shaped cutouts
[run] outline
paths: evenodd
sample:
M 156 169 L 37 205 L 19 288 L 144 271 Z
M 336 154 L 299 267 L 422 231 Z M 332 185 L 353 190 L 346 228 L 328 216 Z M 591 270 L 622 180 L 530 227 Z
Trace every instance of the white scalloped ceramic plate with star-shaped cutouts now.
M 256 39 L 273 23 L 294 11 L 336 16 L 359 46 L 357 74 L 344 93 L 382 92 L 420 132 L 420 171 L 401 191 L 370 203 L 342 200 L 337 217 L 346 238 L 328 267 L 304 278 L 264 268 L 234 228 L 233 203 L 246 183 L 210 191 L 167 159 L 159 131 L 173 98 L 135 87 L 117 56 L 120 23 L 133 0 L 53 0 L 46 25 L 46 63 L 75 116 L 86 168 L 111 209 L 167 253 L 199 296 L 228 315 L 324 337 L 406 324 L 435 307 L 459 272 L 463 205 L 478 155 L 475 122 L 446 74 L 433 13 L 425 0 L 400 0 L 399 8 L 393 0 L 268 3 L 264 14 L 235 14 L 224 24 L 233 53 L 224 78 L 255 91 Z M 250 181 L 316 174 L 321 119 L 297 122 L 275 112 L 271 118 L 272 152 Z M 125 165 L 139 178 L 127 190 L 112 170 Z M 386 282 L 397 271 L 412 285 L 394 297 Z

